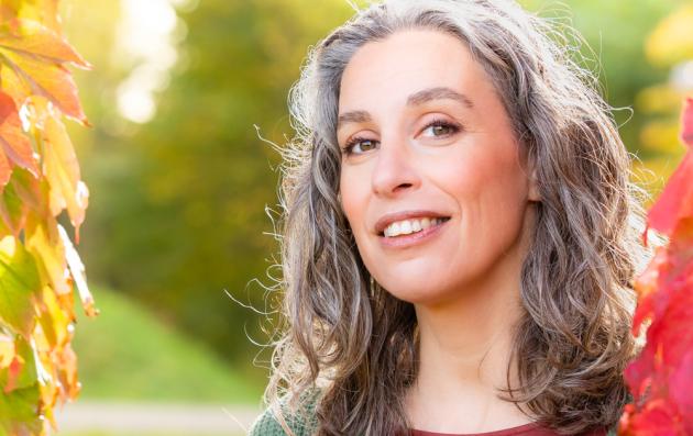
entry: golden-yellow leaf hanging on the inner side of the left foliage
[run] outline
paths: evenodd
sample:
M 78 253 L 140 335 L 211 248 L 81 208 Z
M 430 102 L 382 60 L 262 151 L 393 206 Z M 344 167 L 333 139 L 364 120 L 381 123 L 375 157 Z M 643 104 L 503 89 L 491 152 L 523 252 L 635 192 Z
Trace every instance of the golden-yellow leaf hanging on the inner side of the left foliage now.
M 44 174 L 51 185 L 51 210 L 67 206 L 73 226 L 79 232 L 89 203 L 89 190 L 79 180 L 79 163 L 62 122 L 48 116 L 44 128 Z

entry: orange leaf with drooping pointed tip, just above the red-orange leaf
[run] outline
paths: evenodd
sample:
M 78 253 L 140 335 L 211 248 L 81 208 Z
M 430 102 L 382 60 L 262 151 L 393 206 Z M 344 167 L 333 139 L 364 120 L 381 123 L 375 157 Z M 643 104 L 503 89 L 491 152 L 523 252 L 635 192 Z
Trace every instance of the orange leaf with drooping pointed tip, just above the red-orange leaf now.
M 37 57 L 22 56 L 6 48 L 0 48 L 0 54 L 18 76 L 29 83 L 33 93 L 52 101 L 65 115 L 81 124 L 89 124 L 79 102 L 75 80 L 65 67 Z

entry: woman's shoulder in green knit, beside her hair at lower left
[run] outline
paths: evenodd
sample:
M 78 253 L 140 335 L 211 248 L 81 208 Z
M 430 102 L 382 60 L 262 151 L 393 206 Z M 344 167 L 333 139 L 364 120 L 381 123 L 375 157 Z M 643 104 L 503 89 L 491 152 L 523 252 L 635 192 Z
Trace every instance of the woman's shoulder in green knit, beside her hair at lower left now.
M 317 425 L 315 404 L 310 403 L 299 412 L 287 407 L 267 407 L 253 423 L 250 436 L 310 436 Z

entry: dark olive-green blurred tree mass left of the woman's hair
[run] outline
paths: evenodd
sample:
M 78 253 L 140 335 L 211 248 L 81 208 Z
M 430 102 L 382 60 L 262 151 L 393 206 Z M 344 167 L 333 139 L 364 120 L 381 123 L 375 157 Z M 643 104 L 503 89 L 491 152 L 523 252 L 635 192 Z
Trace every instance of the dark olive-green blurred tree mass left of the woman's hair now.
M 184 15 L 187 65 L 157 116 L 132 135 L 97 132 L 117 160 L 92 161 L 92 213 L 85 258 L 97 281 L 132 294 L 186 333 L 250 367 L 266 340 L 263 306 L 277 247 L 265 205 L 276 203 L 278 156 L 290 130 L 286 92 L 306 47 L 350 15 L 341 1 L 206 0 Z M 127 130 L 125 130 L 127 132 Z M 96 157 L 95 157 L 96 159 Z M 264 259 L 264 260 L 263 260 Z

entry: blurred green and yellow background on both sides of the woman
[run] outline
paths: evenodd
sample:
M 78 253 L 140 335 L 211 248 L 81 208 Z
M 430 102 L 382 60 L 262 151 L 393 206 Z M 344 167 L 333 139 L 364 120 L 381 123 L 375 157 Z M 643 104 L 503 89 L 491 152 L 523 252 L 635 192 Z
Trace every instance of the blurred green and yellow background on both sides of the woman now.
M 356 2 L 364 4 L 364 2 Z M 572 21 L 585 67 L 652 194 L 683 154 L 693 3 L 526 0 Z M 345 0 L 63 0 L 92 128 L 70 123 L 91 195 L 79 250 L 101 315 L 76 331 L 81 398 L 257 405 L 280 270 L 279 156 L 287 91 Z M 256 128 L 256 127 L 257 128 Z M 226 291 L 238 302 L 230 299 Z

